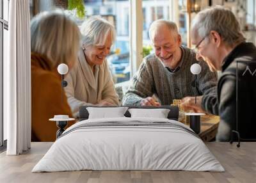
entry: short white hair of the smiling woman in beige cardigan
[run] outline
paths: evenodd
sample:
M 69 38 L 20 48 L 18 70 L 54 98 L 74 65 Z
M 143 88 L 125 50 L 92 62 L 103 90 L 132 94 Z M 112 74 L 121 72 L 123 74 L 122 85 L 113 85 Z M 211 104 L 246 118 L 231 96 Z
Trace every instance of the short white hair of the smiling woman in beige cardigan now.
M 103 45 L 109 33 L 111 34 L 112 44 L 115 42 L 114 26 L 99 16 L 92 16 L 84 21 L 80 30 L 84 45 Z

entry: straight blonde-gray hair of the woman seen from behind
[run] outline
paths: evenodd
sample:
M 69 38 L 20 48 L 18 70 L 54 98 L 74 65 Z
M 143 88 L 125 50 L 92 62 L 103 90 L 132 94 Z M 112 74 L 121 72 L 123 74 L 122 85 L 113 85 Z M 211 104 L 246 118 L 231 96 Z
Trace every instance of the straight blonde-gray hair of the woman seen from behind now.
M 62 10 L 36 15 L 30 29 L 31 52 L 46 56 L 53 67 L 76 60 L 80 47 L 79 28 Z

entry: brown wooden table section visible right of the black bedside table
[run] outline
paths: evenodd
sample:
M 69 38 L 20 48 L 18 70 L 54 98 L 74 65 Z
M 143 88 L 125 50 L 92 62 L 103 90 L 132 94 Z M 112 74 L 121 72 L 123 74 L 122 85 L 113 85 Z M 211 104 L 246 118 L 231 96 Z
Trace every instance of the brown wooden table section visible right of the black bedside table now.
M 220 123 L 220 117 L 214 115 L 201 116 L 200 138 L 203 141 L 211 141 L 215 138 Z M 189 126 L 188 123 L 185 123 Z

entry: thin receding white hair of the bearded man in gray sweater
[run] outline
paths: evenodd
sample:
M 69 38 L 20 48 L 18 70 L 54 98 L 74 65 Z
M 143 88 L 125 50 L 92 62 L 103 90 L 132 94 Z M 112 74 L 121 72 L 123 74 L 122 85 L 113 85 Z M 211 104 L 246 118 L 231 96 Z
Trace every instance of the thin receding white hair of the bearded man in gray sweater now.
M 179 35 L 179 30 L 177 28 L 177 25 L 170 21 L 170 20 L 163 20 L 163 19 L 159 19 L 156 20 L 154 22 L 152 22 L 152 24 L 150 24 L 150 28 L 148 30 L 148 35 L 150 37 L 150 40 L 152 40 L 152 31 L 156 31 L 157 28 L 159 28 L 159 26 L 167 26 L 170 29 L 170 32 L 174 33 L 175 37 L 177 35 Z

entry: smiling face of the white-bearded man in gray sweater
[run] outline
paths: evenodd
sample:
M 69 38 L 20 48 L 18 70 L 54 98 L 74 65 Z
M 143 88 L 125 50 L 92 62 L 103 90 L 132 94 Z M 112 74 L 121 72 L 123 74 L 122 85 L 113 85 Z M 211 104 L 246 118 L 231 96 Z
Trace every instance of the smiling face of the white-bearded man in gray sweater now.
M 154 51 L 165 67 L 176 68 L 181 58 L 180 35 L 172 33 L 166 25 L 161 25 L 152 31 Z

